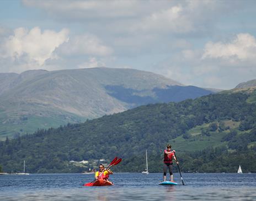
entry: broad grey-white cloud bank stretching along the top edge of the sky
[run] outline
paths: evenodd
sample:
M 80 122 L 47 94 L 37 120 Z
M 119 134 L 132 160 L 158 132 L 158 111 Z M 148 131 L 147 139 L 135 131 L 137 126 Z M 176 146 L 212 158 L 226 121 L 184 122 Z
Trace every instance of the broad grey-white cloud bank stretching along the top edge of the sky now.
M 172 34 L 207 31 L 212 16 L 225 3 L 218 1 L 29 1 L 62 21 L 87 22 L 87 28 L 136 34 L 146 31 Z M 232 9 L 231 9 L 232 10 Z M 204 16 L 204 17 L 202 17 Z M 116 26 L 118 24 L 118 26 Z M 111 29 L 108 29 L 108 28 Z M 208 26 L 207 26 L 208 27 Z

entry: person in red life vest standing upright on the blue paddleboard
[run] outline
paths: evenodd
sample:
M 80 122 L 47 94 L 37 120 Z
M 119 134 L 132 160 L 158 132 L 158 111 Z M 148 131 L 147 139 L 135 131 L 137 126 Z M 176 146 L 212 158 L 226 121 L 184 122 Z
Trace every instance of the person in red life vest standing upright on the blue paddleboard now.
M 174 155 L 175 150 L 171 150 L 171 148 L 172 146 L 168 144 L 167 149 L 164 150 L 163 181 L 166 181 L 166 174 L 167 174 L 167 168 L 168 168 L 170 173 L 170 181 L 174 182 L 173 181 L 173 159 L 177 164 L 179 164 L 179 162 L 175 158 L 175 155 Z

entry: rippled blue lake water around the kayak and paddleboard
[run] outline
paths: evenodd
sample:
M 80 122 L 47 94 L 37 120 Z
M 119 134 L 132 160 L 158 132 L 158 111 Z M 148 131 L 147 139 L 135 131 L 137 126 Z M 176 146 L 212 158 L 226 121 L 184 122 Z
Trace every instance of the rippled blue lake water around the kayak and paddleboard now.
M 83 187 L 93 175 L 0 176 L 0 200 L 256 200 L 256 173 L 183 173 L 182 185 L 160 186 L 162 173 L 115 173 L 114 186 Z

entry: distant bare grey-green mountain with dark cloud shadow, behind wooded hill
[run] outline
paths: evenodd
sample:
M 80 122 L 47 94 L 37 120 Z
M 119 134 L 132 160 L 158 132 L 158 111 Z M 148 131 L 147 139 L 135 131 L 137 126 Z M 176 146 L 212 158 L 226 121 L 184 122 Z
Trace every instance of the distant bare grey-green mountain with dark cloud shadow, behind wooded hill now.
M 178 102 L 215 92 L 135 69 L 0 73 L 0 140 L 141 105 Z

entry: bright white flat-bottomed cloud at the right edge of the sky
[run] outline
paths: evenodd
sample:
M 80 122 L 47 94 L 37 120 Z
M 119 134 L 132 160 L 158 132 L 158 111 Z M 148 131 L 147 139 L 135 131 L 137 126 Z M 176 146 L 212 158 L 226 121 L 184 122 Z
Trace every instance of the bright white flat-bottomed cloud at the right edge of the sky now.
M 247 59 L 255 59 L 256 62 L 256 40 L 250 34 L 237 34 L 231 42 L 207 42 L 205 45 L 204 58 L 224 58 L 239 59 L 246 61 Z

